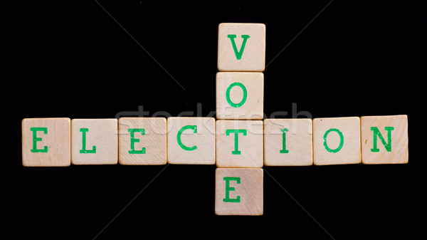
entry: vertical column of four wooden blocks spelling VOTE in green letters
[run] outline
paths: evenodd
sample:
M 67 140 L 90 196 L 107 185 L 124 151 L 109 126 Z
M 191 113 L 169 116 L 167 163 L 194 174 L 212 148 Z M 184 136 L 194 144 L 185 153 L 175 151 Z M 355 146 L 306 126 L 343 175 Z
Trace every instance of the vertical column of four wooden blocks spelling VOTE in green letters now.
M 216 167 L 236 168 L 216 169 L 217 215 L 263 214 L 264 75 L 243 72 L 264 68 L 264 24 L 219 24 L 218 71 L 232 73 L 216 74 Z

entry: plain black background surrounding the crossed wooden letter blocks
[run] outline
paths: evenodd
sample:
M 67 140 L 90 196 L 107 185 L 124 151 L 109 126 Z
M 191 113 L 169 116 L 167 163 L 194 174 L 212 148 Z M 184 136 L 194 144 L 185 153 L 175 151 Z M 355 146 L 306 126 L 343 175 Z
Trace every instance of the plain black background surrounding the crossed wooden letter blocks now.
M 1 1 L 2 207 L 14 239 L 418 236 L 426 1 L 335 0 L 314 21 L 330 1 L 98 2 L 184 89 L 96 1 Z M 263 216 L 215 216 L 215 166 L 21 166 L 22 118 L 214 111 L 222 22 L 265 24 L 267 63 L 297 36 L 265 69 L 267 116 L 292 103 L 313 118 L 408 115 L 408 165 L 265 167 L 330 235 L 266 173 Z

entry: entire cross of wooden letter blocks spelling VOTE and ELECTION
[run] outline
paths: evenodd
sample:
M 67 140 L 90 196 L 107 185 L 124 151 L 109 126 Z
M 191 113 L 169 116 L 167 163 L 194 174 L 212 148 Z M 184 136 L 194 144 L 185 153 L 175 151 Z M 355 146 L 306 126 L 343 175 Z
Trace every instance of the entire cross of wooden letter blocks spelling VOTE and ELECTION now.
M 263 120 L 264 24 L 219 24 L 216 119 L 22 120 L 22 164 L 216 165 L 215 214 L 263 214 L 263 166 L 408 162 L 406 115 Z

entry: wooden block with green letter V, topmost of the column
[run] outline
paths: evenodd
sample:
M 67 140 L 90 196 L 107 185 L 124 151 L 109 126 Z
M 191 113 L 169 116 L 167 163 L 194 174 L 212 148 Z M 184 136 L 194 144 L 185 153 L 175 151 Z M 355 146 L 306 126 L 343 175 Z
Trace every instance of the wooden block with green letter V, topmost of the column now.
M 264 24 L 219 24 L 218 71 L 262 72 L 264 68 Z

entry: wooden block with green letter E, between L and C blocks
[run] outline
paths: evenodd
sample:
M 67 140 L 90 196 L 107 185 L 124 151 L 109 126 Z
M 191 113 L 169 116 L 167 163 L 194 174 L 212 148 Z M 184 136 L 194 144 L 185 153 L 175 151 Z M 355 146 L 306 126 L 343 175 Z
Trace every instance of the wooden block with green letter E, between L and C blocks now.
M 166 162 L 166 118 L 119 119 L 121 165 L 165 165 Z

